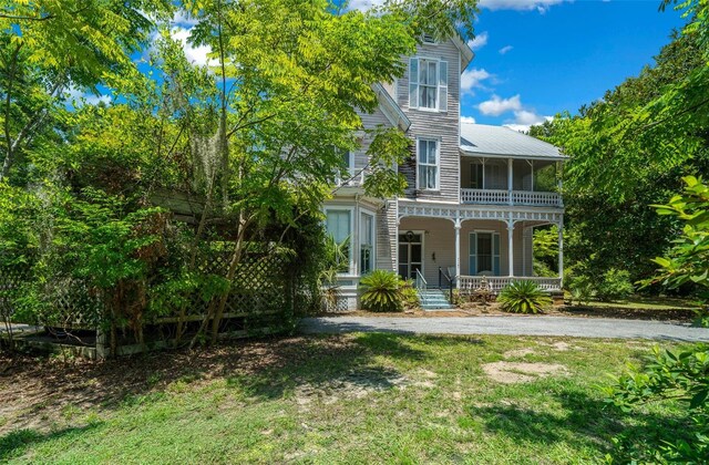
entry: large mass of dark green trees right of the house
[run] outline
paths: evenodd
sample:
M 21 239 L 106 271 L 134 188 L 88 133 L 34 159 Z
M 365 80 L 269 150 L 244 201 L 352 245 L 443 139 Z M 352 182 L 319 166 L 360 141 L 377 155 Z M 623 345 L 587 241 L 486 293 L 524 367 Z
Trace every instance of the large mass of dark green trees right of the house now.
M 637 281 L 653 276 L 649 259 L 670 246 L 677 219 L 647 206 L 676 193 L 684 176 L 709 170 L 708 8 L 681 2 L 687 28 L 651 68 L 578 115 L 531 130 L 571 156 L 564 173 L 568 265 L 585 261 L 600 273 L 625 269 Z

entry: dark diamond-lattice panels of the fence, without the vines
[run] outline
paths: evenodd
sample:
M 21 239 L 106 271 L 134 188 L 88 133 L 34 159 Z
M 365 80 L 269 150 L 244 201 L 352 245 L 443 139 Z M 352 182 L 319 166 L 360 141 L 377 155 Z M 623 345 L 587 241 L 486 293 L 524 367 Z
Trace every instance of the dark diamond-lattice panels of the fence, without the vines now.
M 199 271 L 220 278 L 227 276 L 229 246 L 229 242 L 216 242 L 215 247 L 210 247 L 198 260 Z M 299 309 L 302 310 L 302 307 L 309 304 L 311 293 L 304 289 L 297 262 L 297 258 L 287 252 L 251 245 L 237 266 L 222 328 L 229 332 L 264 327 L 275 330 L 290 321 Z M 24 287 L 23 290 L 27 290 L 28 285 L 30 282 L 25 273 L 0 269 L 0 319 L 11 317 L 20 289 Z M 152 285 L 153 282 L 148 283 Z M 34 321 L 22 322 L 65 329 L 99 330 L 111 313 L 105 307 L 105 296 L 82 280 L 56 277 L 35 290 L 42 302 L 38 306 L 40 310 L 35 311 Z M 189 324 L 205 319 L 209 302 L 205 301 L 199 289 L 183 296 L 178 301 L 181 304 L 161 312 L 160 317 L 150 317 L 146 313 L 143 323 L 169 326 L 182 320 Z M 183 310 L 185 314 L 179 317 Z

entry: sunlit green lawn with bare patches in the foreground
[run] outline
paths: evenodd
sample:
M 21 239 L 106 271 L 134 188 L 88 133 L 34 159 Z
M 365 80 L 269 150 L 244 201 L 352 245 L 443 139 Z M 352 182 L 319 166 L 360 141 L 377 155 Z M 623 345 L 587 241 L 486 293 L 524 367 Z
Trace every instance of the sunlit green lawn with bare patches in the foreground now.
M 368 333 L 44 362 L 0 378 L 27 394 L 0 407 L 0 462 L 599 462 L 621 431 L 681 431 L 596 388 L 650 345 Z

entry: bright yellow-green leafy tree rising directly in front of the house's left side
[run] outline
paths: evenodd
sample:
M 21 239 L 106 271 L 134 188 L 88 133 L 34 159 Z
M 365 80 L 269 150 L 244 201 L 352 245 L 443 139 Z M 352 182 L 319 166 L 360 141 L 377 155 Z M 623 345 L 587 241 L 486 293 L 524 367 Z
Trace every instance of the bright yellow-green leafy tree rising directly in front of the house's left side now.
M 292 224 L 296 205 L 318 210 L 343 167 L 339 154 L 362 137 L 372 138 L 366 188 L 387 195 L 404 186 L 391 167 L 408 154 L 405 137 L 397 130 L 364 131 L 359 115 L 376 110 L 372 86 L 402 74 L 401 56 L 421 34 L 458 33 L 451 19 L 472 12 L 474 2 L 388 2 L 337 14 L 326 0 L 185 1 L 185 8 L 197 20 L 192 42 L 212 50 L 209 97 L 196 97 L 205 91 L 189 84 L 194 71 L 171 55 L 169 44 L 164 71 L 187 118 L 193 157 L 206 168 L 201 225 L 212 210 L 234 224 L 225 276 L 232 282 L 258 226 L 271 217 Z M 208 316 L 213 340 L 226 299 Z

